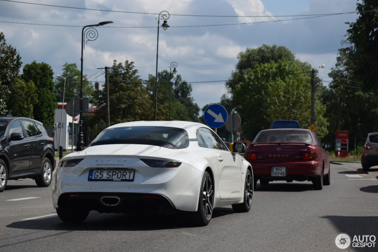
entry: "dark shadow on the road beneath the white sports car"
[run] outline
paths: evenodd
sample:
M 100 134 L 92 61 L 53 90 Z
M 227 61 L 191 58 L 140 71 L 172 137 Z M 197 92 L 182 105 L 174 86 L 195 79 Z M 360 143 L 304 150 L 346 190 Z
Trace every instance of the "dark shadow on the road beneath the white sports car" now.
M 212 219 L 235 213 L 232 208 L 214 208 Z M 210 224 L 211 225 L 211 222 Z M 183 229 L 196 227 L 181 213 L 172 215 L 148 215 L 131 213 L 98 213 L 91 211 L 81 223 L 62 222 L 57 216 L 39 220 L 13 222 L 6 227 L 33 230 L 63 231 L 143 231 L 163 229 Z

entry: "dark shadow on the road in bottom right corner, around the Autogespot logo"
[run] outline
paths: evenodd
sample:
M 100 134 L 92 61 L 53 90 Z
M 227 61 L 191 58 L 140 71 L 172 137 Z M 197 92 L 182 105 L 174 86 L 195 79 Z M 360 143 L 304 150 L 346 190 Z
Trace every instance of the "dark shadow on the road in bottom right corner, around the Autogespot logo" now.
M 353 237 L 357 235 L 375 235 L 378 237 L 378 217 L 377 216 L 334 216 L 334 215 L 327 215 L 322 216 L 321 218 L 328 219 L 332 222 L 333 226 L 336 227 L 338 230 L 331 239 L 338 233 L 347 233 L 353 241 Z M 377 245 L 377 244 L 375 244 Z M 375 248 L 357 248 L 357 247 L 350 247 L 350 250 L 357 250 L 357 251 L 376 251 Z

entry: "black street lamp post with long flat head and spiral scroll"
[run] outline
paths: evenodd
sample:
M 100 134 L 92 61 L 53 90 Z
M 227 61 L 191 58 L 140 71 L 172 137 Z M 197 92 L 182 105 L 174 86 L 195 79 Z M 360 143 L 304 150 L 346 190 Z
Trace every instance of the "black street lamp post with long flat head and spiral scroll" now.
M 80 121 L 79 121 L 79 139 L 76 145 L 76 151 L 82 151 L 84 149 L 84 133 L 83 133 L 83 50 L 84 50 L 84 35 L 87 38 L 85 44 L 88 40 L 93 41 L 98 37 L 98 32 L 93 26 L 106 25 L 108 23 L 113 23 L 112 21 L 100 22 L 96 25 L 86 25 L 81 31 L 81 75 L 80 75 Z M 90 28 L 87 28 L 90 27 Z M 84 29 L 87 28 L 85 31 Z

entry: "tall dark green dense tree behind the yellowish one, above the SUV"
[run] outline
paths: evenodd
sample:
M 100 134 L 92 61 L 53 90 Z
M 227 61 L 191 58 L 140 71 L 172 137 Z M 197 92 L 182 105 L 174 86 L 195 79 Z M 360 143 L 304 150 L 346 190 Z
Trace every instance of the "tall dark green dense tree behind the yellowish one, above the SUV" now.
M 33 81 L 36 86 L 37 103 L 34 105 L 34 119 L 46 125 L 54 125 L 56 97 L 54 95 L 54 72 L 49 64 L 33 61 L 22 69 L 21 78 Z

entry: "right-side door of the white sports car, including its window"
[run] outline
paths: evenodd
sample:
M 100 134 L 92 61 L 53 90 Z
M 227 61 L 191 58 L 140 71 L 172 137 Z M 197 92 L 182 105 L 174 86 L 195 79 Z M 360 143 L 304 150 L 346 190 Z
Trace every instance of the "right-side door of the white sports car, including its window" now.
M 199 128 L 208 148 L 212 148 L 218 159 L 218 192 L 221 199 L 240 199 L 242 197 L 242 172 L 236 153 L 230 152 L 217 134 L 208 128 Z

